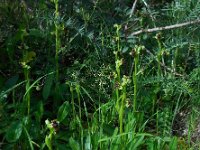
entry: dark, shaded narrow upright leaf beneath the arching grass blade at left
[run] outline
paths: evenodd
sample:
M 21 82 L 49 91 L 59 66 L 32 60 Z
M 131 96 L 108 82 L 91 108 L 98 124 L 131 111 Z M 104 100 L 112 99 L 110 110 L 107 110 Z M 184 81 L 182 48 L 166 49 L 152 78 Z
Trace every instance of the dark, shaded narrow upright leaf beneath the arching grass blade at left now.
M 49 97 L 49 94 L 50 94 L 50 91 L 51 91 L 51 86 L 52 86 L 52 83 L 53 83 L 53 77 L 54 77 L 54 75 L 50 74 L 46 78 L 44 88 L 43 88 L 43 91 L 42 91 L 42 96 L 45 100 Z

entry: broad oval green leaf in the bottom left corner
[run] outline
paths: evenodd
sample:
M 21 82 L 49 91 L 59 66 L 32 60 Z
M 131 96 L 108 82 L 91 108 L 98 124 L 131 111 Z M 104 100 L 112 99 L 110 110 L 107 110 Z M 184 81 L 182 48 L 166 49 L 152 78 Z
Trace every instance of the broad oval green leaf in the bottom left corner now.
M 6 140 L 8 142 L 16 142 L 23 130 L 23 125 L 20 121 L 15 121 L 10 128 L 8 129 L 8 132 L 6 133 Z

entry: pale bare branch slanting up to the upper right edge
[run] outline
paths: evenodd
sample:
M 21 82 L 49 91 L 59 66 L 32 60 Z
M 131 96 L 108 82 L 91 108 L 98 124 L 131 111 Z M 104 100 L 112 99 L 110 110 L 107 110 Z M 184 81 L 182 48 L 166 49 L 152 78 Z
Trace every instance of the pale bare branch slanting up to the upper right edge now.
M 156 27 L 156 28 L 152 28 L 152 29 L 142 29 L 142 30 L 135 31 L 135 32 L 131 33 L 131 35 L 139 35 L 139 34 L 142 34 L 142 33 L 150 33 L 150 32 L 157 32 L 157 31 L 163 31 L 163 30 L 170 30 L 170 29 L 181 28 L 181 27 L 184 27 L 184 26 L 197 24 L 197 23 L 200 23 L 199 19 L 194 20 L 194 21 L 188 21 L 188 22 L 180 23 L 180 24 L 164 26 L 164 27 Z

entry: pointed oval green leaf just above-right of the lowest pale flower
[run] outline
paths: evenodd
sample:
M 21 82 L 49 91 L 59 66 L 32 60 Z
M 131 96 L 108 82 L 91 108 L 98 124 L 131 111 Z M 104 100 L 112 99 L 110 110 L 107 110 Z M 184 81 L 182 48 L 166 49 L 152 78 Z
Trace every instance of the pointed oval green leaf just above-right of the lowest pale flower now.
M 68 101 L 65 101 L 59 108 L 58 110 L 58 116 L 57 116 L 57 119 L 59 122 L 63 121 L 68 113 L 69 113 L 69 110 L 70 110 L 70 105 L 69 105 L 69 102 Z

